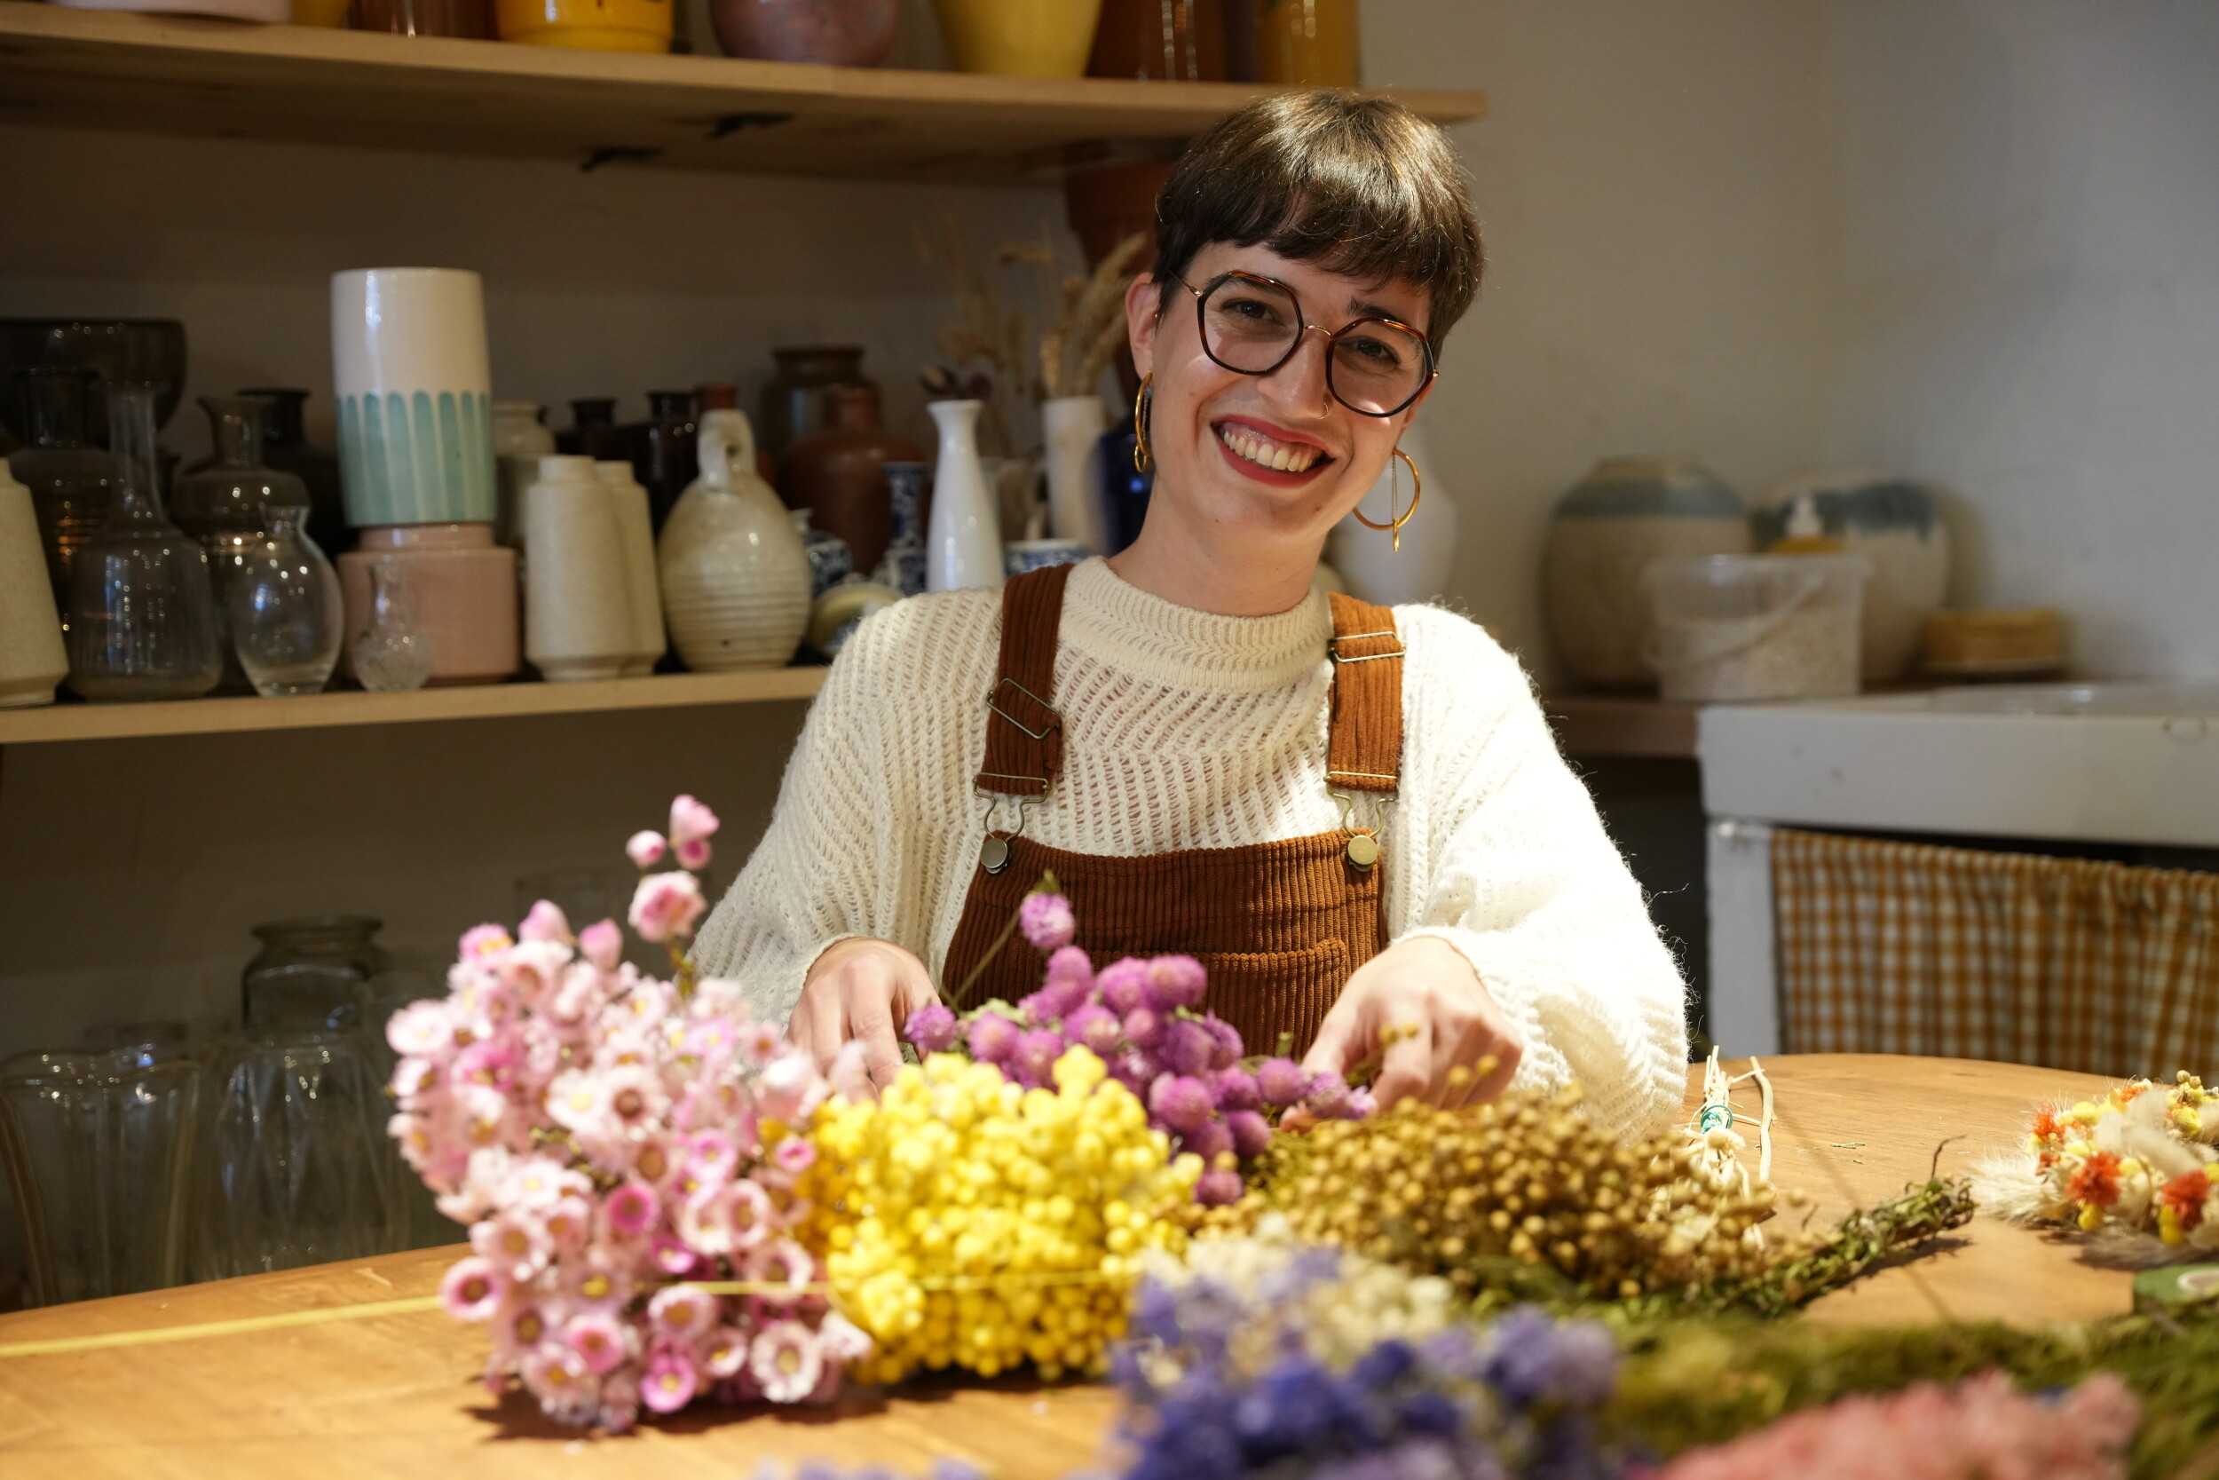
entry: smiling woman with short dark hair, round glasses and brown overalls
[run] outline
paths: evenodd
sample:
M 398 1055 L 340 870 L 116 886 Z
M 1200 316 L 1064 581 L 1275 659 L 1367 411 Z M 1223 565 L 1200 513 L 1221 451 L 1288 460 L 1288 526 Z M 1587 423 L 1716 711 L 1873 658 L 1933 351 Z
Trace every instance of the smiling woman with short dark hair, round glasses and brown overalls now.
M 1038 985 L 994 943 L 1054 872 L 1078 945 L 1200 956 L 1252 1050 L 1380 1056 L 1382 1103 L 1580 1078 L 1655 1129 L 1680 976 L 1518 661 L 1451 612 L 1311 588 L 1478 291 L 1445 135 L 1345 93 L 1252 104 L 1181 160 L 1156 240 L 1125 293 L 1141 537 L 870 617 L 701 967 L 825 1061 L 863 1038 L 883 1081 L 936 981 Z

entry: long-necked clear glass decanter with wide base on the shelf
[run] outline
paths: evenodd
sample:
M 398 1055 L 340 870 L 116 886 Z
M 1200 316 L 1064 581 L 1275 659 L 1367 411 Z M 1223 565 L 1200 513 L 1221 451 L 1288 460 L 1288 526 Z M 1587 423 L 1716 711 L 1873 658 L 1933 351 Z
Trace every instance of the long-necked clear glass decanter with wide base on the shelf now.
M 162 515 L 153 386 L 109 386 L 118 493 L 69 572 L 69 686 L 95 701 L 197 699 L 224 677 L 209 555 Z

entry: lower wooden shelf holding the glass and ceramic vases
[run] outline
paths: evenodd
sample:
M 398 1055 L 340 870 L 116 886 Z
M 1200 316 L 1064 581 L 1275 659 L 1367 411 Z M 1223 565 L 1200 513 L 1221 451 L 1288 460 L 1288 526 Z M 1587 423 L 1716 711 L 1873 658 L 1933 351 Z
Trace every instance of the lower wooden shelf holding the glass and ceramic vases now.
M 772 699 L 808 699 L 823 686 L 825 672 L 825 668 L 759 668 L 750 672 L 670 672 L 646 679 L 608 679 L 601 683 L 419 688 L 406 695 L 351 690 L 306 695 L 302 699 L 244 697 L 182 699 L 178 703 L 55 703 L 36 710 L 0 710 L 0 746 L 761 703 Z

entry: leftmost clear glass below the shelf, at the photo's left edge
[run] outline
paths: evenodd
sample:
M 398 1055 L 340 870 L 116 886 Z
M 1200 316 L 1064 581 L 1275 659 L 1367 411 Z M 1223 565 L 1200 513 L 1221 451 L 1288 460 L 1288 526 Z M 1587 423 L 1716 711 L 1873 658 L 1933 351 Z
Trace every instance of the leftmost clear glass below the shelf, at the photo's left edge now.
M 149 1047 L 0 1065 L 0 1167 L 33 1305 L 184 1280 L 200 1065 Z

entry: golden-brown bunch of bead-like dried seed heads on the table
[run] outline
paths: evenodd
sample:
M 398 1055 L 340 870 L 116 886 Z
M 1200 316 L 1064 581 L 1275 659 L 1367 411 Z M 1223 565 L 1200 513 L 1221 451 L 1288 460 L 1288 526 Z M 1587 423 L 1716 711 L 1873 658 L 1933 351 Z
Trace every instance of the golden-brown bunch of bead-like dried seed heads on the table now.
M 1815 1247 L 1766 1245 L 1757 1225 L 1773 1189 L 1720 1174 L 1709 1138 L 1627 1145 L 1578 1103 L 1578 1085 L 1465 1109 L 1402 1101 L 1280 1136 L 1256 1192 L 1212 1209 L 1205 1231 L 1245 1231 L 1278 1209 L 1303 1238 L 1445 1276 L 1462 1296 L 1485 1285 L 1489 1260 L 1518 1260 L 1624 1300 L 1755 1276 Z

